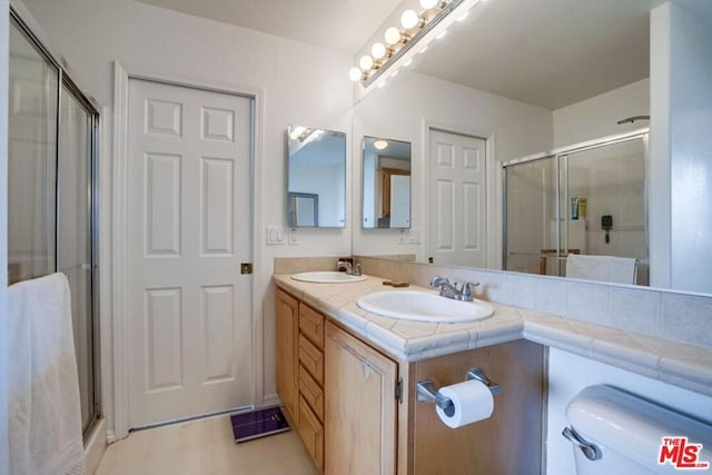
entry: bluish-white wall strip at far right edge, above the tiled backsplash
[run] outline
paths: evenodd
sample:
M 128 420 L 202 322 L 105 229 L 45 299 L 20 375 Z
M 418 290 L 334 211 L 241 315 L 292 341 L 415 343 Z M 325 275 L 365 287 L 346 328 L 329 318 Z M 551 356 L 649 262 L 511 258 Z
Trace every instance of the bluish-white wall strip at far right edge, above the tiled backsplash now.
M 671 6 L 671 287 L 711 293 L 712 3 Z

